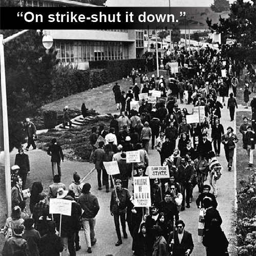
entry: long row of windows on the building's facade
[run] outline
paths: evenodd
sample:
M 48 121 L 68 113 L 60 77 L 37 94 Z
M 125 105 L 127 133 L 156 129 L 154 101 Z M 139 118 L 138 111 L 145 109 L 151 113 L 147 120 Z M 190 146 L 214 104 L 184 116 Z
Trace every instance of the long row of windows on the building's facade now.
M 129 45 L 109 41 L 55 41 L 57 59 L 61 62 L 88 62 L 104 59 L 128 59 Z

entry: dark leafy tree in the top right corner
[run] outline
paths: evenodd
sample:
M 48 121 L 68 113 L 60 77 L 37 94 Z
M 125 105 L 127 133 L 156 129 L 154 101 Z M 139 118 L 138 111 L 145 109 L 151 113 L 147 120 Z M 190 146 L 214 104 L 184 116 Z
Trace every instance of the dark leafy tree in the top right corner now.
M 224 38 L 224 44 L 227 38 L 236 39 L 236 44 L 223 48 L 223 56 L 255 62 L 256 0 L 252 2 L 238 0 L 232 4 L 229 18 L 224 19 L 220 17 L 220 25 L 211 24 L 211 21 L 207 20 L 207 24 L 212 32 L 221 33 Z

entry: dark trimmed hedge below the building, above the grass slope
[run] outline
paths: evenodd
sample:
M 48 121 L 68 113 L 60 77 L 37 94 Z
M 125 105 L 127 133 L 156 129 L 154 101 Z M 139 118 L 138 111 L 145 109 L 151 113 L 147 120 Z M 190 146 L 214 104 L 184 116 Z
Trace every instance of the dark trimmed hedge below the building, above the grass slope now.
M 145 59 L 116 59 L 89 61 L 90 69 L 106 69 L 106 83 L 114 82 L 130 75 L 131 70 L 145 69 Z

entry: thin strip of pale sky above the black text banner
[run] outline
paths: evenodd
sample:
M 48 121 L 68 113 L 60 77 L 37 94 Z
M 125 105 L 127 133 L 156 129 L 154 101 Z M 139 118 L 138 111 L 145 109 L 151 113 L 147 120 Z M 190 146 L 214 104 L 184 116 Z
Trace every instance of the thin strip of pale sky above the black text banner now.
M 232 4 L 234 0 L 229 0 Z M 170 0 L 172 7 L 208 7 L 214 0 Z M 168 7 L 169 0 L 107 0 L 109 7 Z

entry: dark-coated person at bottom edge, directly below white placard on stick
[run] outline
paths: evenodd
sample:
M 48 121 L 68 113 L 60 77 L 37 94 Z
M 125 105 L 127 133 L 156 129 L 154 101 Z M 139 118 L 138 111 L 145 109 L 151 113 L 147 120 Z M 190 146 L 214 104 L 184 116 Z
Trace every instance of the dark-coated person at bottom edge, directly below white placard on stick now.
M 40 256 L 59 256 L 63 251 L 61 239 L 55 234 L 56 225 L 51 221 L 47 224 L 47 234 L 41 237 L 39 243 Z

